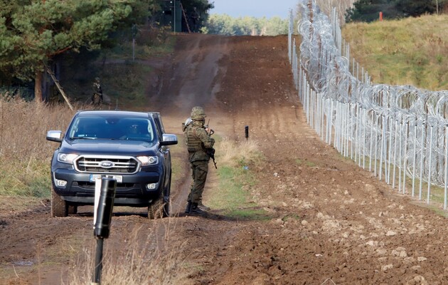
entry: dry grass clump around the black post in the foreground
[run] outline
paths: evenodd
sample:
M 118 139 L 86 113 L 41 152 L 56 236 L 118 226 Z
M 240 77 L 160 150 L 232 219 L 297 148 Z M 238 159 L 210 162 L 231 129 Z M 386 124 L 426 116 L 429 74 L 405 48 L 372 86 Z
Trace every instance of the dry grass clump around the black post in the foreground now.
M 136 226 L 128 239 L 112 247 L 108 247 L 110 241 L 105 239 L 101 284 L 191 284 L 187 277 L 192 269 L 188 269 L 179 254 L 186 244 L 172 240 L 176 237 L 171 234 L 174 228 L 175 225 L 168 222 L 159 224 L 159 227 L 148 233 L 143 225 Z M 78 260 L 71 264 L 68 284 L 90 284 L 95 264 L 95 244 L 92 240 L 90 247 L 85 247 Z

